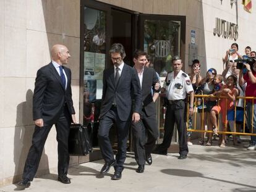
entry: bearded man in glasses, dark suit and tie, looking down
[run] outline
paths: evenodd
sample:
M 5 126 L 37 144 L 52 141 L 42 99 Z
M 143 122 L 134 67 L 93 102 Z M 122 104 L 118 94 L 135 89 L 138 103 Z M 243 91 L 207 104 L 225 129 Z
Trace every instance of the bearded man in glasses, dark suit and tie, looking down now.
M 134 68 L 124 64 L 126 52 L 120 43 L 115 43 L 109 51 L 113 67 L 106 69 L 103 73 L 103 95 L 100 110 L 100 125 L 98 130 L 98 141 L 105 165 L 101 173 L 107 173 L 114 165 L 112 180 L 122 177 L 124 161 L 126 160 L 126 143 L 129 135 L 130 115 L 132 120 L 138 122 L 142 104 L 140 81 Z M 132 109 L 132 98 L 134 107 Z M 116 124 L 118 137 L 118 151 L 116 160 L 109 141 L 109 129 Z

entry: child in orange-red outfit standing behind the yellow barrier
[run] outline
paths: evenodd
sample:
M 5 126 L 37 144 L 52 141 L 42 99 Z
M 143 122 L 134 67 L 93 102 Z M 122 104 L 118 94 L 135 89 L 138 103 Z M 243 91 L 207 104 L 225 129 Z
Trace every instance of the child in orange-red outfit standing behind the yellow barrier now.
M 215 95 L 223 96 L 225 98 L 221 98 L 220 102 L 217 106 L 214 106 L 210 111 L 210 119 L 212 125 L 217 128 L 217 114 L 221 114 L 221 119 L 223 123 L 223 127 L 226 129 L 228 123 L 231 128 L 231 131 L 234 131 L 234 120 L 228 120 L 227 114 L 228 111 L 234 110 L 234 102 L 236 101 L 236 96 L 239 94 L 239 91 L 236 88 L 237 85 L 237 77 L 236 75 L 230 75 L 227 78 L 226 85 L 223 85 L 220 91 L 216 91 Z M 226 131 L 226 130 L 225 130 Z M 225 135 L 222 134 L 220 136 L 220 147 L 225 148 Z M 236 141 L 236 136 L 233 135 L 234 144 Z

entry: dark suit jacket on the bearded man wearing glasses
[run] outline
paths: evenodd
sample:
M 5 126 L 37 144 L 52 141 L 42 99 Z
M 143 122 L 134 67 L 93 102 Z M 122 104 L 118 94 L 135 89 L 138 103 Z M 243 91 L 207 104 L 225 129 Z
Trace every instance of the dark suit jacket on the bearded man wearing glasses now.
M 127 121 L 130 117 L 132 99 L 134 99 L 133 112 L 140 113 L 142 104 L 140 80 L 136 70 L 129 65 L 124 64 L 117 86 L 114 82 L 114 66 L 104 70 L 100 119 L 111 108 L 114 97 L 116 97 L 117 114 L 122 121 Z

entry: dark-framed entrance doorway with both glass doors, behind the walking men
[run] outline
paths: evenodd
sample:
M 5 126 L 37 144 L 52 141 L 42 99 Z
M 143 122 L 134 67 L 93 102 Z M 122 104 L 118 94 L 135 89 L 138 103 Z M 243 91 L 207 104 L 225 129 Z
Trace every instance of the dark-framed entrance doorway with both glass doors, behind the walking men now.
M 146 51 L 153 58 L 153 68 L 164 80 L 174 55 L 185 56 L 186 18 L 171 15 L 140 14 L 103 2 L 81 1 L 80 38 L 80 122 L 92 133 L 95 151 L 80 162 L 101 159 L 98 148 L 98 115 L 102 96 L 103 70 L 111 66 L 108 51 L 113 43 L 121 43 L 126 51 L 124 62 L 133 66 L 135 49 Z M 157 104 L 158 127 L 163 132 L 162 99 Z M 115 146 L 116 131 L 109 137 Z M 131 137 L 127 146 L 131 149 Z

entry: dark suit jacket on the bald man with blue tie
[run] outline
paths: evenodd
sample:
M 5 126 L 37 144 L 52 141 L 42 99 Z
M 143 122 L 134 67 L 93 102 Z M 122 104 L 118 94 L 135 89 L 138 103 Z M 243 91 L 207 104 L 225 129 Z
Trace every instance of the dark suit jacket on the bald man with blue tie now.
M 61 83 L 61 77 L 52 63 L 41 67 L 36 73 L 35 90 L 33 94 L 33 119 L 43 119 L 44 123 L 52 125 L 57 122 L 64 104 L 69 114 L 75 114 L 71 91 L 71 71 L 64 67 L 67 75 L 67 88 Z

